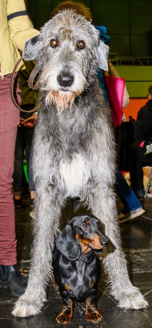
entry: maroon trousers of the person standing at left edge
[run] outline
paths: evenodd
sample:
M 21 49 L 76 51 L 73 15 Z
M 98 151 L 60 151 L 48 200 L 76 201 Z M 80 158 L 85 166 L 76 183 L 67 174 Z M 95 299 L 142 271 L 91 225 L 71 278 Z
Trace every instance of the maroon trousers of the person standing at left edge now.
M 17 262 L 12 175 L 20 112 L 10 97 L 11 75 L 0 77 L 0 263 Z

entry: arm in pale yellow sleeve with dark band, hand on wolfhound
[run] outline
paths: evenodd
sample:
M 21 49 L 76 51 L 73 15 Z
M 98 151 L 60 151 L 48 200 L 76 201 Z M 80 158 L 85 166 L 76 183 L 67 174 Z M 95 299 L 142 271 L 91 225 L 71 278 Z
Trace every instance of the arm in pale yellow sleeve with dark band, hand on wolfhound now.
M 26 12 L 24 0 L 8 0 L 7 16 L 9 19 L 8 26 L 10 37 L 13 44 L 19 50 L 23 50 L 25 41 L 39 34 L 40 31 L 33 28 Z

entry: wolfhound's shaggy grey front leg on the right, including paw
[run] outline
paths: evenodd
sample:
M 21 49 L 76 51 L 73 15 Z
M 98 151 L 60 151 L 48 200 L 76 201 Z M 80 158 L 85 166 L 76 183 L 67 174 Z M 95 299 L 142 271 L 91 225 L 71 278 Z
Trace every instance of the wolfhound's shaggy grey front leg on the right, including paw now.
M 103 260 L 109 276 L 111 294 L 119 301 L 119 306 L 126 309 L 140 309 L 148 306 L 139 289 L 131 283 L 127 263 L 121 247 L 116 199 L 110 189 L 98 190 L 89 195 L 92 213 L 99 218 L 105 228 L 104 234 L 113 244 Z M 107 247 L 108 248 L 108 247 Z

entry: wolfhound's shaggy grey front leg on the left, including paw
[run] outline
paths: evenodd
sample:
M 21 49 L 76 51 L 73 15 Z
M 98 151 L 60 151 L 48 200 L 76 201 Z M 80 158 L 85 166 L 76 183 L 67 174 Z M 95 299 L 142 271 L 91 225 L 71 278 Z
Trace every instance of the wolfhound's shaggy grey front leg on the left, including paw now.
M 26 317 L 40 312 L 46 301 L 46 289 L 53 276 L 52 260 L 55 236 L 60 217 L 60 201 L 43 192 L 36 198 L 36 218 L 32 245 L 31 268 L 25 293 L 18 299 L 12 311 L 14 316 Z

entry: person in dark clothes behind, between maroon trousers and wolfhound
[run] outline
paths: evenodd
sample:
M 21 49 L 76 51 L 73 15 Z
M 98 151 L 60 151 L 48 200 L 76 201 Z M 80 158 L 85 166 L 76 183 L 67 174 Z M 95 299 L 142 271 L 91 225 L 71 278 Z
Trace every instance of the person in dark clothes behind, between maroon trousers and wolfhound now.
M 19 88 L 21 90 L 21 108 L 26 111 L 20 112 L 20 124 L 17 128 L 16 146 L 15 146 L 15 162 L 13 173 L 13 191 L 14 201 L 17 208 L 22 205 L 22 181 L 23 181 L 23 159 L 25 151 L 25 160 L 27 163 L 27 172 L 29 171 L 29 157 L 31 149 L 31 141 L 33 136 L 33 125 L 27 125 L 27 119 L 32 119 L 29 110 L 34 108 L 36 103 L 36 92 L 28 87 L 28 78 L 35 63 L 33 61 L 25 61 L 25 69 L 19 71 Z M 30 208 L 33 208 L 33 199 L 35 195 L 30 192 Z

